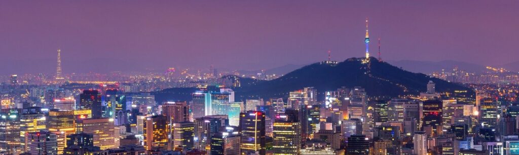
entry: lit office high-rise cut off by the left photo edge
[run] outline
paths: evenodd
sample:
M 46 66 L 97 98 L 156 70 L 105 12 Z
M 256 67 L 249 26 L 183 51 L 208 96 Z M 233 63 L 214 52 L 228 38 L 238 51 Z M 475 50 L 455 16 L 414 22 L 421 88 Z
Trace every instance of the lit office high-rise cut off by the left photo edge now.
M 16 154 L 22 150 L 20 139 L 20 114 L 9 109 L 0 112 L 0 152 Z

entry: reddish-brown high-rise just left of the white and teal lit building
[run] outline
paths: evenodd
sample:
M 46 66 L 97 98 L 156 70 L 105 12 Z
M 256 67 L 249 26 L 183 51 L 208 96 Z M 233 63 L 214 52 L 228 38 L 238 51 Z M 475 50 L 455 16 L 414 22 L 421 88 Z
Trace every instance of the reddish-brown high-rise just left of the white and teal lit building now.
M 189 121 L 189 106 L 186 102 L 166 102 L 162 106 L 162 115 L 171 123 Z

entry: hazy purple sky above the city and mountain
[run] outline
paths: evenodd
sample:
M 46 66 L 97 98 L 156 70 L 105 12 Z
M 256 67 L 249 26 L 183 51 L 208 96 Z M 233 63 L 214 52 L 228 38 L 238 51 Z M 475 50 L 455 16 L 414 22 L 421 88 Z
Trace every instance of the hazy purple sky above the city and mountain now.
M 268 69 L 372 55 L 505 64 L 519 1 L 0 1 L 0 73 Z

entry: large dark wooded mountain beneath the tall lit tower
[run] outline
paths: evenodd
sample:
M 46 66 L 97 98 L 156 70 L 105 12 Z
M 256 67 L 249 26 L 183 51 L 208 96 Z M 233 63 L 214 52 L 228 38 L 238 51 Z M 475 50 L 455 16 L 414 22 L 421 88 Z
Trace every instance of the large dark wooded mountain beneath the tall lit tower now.
M 452 92 L 454 90 L 467 90 L 468 92 L 472 92 L 469 88 L 456 83 L 429 77 L 421 73 L 404 71 L 386 62 L 376 61 L 375 58 L 371 59 L 372 61 L 367 64 L 361 63 L 361 60 L 358 58 L 347 59 L 335 66 L 314 63 L 270 81 L 241 79 L 248 82 L 242 82 L 241 87 L 233 89 L 236 92 L 237 101 L 258 97 L 286 98 L 290 91 L 300 90 L 304 87 L 315 87 L 318 92 L 320 92 L 318 98 L 324 97 L 324 91 L 336 90 L 343 86 L 347 88 L 356 86 L 365 88 L 367 94 L 370 96 L 397 97 L 407 94 L 416 95 L 426 91 L 427 82 L 429 82 L 429 80 L 436 83 L 436 90 L 439 92 Z M 180 90 L 173 88 L 161 92 L 174 92 L 179 94 L 177 91 Z M 188 91 L 193 92 L 194 90 Z M 190 95 L 189 92 L 182 93 Z M 173 94 L 169 95 L 174 98 Z M 189 97 L 183 97 L 183 99 L 189 100 Z

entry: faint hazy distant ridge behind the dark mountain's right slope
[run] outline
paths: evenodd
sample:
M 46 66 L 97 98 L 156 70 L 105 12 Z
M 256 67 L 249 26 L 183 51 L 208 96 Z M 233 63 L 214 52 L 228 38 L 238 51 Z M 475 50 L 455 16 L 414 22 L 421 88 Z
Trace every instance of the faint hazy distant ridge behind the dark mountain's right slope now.
M 453 60 L 444 60 L 444 61 L 414 61 L 414 60 L 400 60 L 400 61 L 389 61 L 394 66 L 402 67 L 403 69 L 416 73 L 425 73 L 430 74 L 432 72 L 440 72 L 442 69 L 452 70 L 455 66 L 458 66 L 459 69 L 463 69 L 470 73 L 482 73 L 485 71 L 485 66 L 453 61 Z

